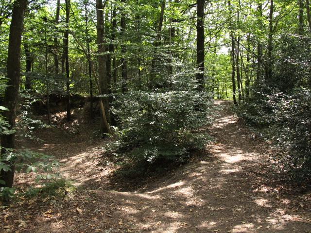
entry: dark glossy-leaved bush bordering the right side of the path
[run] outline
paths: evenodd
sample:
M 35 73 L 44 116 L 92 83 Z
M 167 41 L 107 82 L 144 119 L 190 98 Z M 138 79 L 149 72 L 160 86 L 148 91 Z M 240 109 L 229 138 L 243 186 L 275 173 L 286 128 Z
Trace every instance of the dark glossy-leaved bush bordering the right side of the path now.
M 311 175 L 311 90 L 296 88 L 271 95 L 258 93 L 244 103 L 241 116 L 256 126 L 267 127 L 278 145 L 289 154 L 282 160 L 287 168 Z

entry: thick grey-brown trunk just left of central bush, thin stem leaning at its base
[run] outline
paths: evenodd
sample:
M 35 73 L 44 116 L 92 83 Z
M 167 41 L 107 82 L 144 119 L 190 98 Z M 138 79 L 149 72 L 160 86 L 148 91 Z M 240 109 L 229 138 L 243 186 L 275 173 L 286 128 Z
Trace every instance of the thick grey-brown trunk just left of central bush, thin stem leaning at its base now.
M 96 15 L 97 15 L 97 48 L 98 48 L 98 85 L 99 92 L 101 95 L 109 93 L 108 89 L 108 79 L 107 79 L 107 69 L 106 61 L 107 57 L 104 55 L 105 45 L 104 45 L 104 5 L 103 0 L 96 0 Z M 108 98 L 104 97 L 100 101 L 101 112 L 102 112 L 102 132 L 111 133 L 108 119 L 109 119 L 109 101 Z

